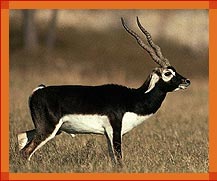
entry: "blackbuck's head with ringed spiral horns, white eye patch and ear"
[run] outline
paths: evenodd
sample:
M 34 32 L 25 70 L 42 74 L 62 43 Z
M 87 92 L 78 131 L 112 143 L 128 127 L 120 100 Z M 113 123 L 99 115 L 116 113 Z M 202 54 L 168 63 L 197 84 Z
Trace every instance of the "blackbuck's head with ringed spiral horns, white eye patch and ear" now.
M 175 68 L 170 65 L 169 60 L 162 55 L 160 47 L 153 42 L 150 33 L 141 25 L 138 17 L 137 25 L 144 33 L 149 45 L 145 44 L 141 37 L 126 25 L 123 18 L 121 18 L 121 22 L 125 30 L 137 40 L 138 44 L 146 50 L 151 58 L 159 65 L 146 80 L 149 84 L 146 93 L 151 91 L 156 84 L 158 84 L 159 88 L 164 92 L 186 89 L 190 85 L 190 80 L 180 75 Z

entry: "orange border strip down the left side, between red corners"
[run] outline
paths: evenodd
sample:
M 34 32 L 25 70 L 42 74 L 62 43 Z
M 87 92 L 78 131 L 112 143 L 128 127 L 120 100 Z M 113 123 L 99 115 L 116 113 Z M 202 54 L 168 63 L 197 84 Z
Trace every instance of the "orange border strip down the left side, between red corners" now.
M 9 17 L 8 9 L 1 9 L 1 172 L 9 165 Z

